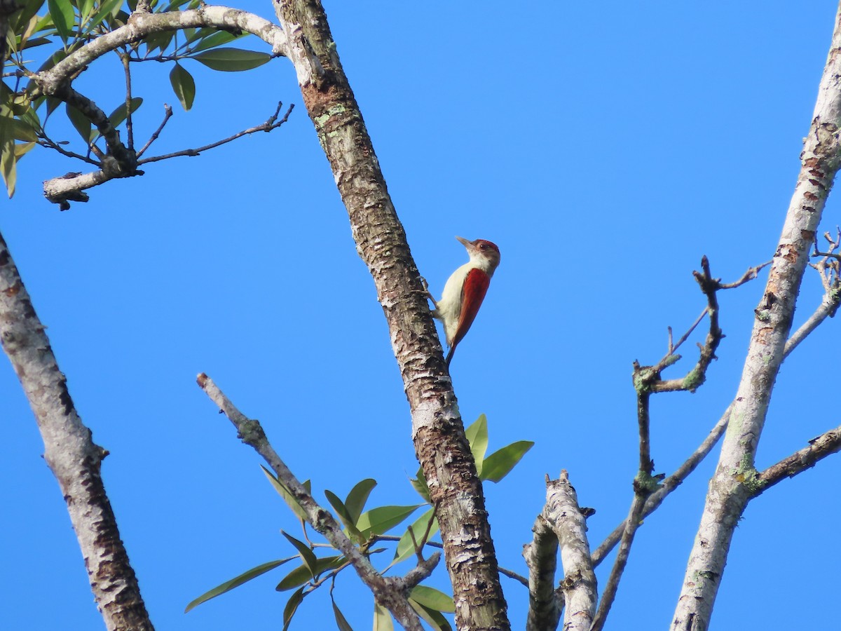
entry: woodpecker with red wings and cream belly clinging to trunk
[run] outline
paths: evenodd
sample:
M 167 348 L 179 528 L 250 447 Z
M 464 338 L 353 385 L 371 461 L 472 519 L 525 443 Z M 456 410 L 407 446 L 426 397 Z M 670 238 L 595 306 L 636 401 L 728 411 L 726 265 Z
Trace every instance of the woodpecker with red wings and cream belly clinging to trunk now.
M 462 341 L 479 313 L 484 294 L 488 291 L 490 277 L 500 264 L 500 248 L 496 247 L 495 243 L 484 239 L 468 241 L 461 236 L 457 236 L 456 239 L 467 248 L 470 260 L 447 278 L 441 300 L 436 302 L 430 294 L 435 305 L 432 315 L 442 321 L 447 346 L 450 347 L 447 353 L 447 368 L 458 342 Z

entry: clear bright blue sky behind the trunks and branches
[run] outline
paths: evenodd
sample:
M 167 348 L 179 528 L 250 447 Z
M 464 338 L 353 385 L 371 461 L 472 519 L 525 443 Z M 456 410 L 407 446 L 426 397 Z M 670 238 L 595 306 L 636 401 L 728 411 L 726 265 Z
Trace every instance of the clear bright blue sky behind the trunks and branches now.
M 700 313 L 691 272 L 702 255 L 727 281 L 775 251 L 836 6 L 325 4 L 431 289 L 439 293 L 466 261 L 454 236 L 500 246 L 500 268 L 452 363 L 464 419 L 487 414 L 491 449 L 536 442 L 508 478 L 486 487 L 500 564 L 525 573 L 521 546 L 542 506 L 543 475 L 560 469 L 597 511 L 595 548 L 631 501 L 632 361 L 656 362 L 666 327 L 679 335 Z M 236 6 L 272 17 L 267 2 Z M 285 596 L 273 588 L 285 568 L 182 613 L 210 587 L 293 554 L 279 529 L 299 534 L 196 374 L 259 418 L 321 498 L 373 477 L 373 504 L 415 503 L 409 409 L 292 66 L 278 59 L 220 73 L 186 61 L 198 84 L 189 113 L 172 95 L 168 66 L 139 66 L 136 137 L 174 103 L 157 152 L 256 125 L 278 100 L 299 107 L 272 134 L 149 165 L 65 213 L 45 202 L 40 183 L 81 165 L 33 151 L 0 228 L 77 409 L 111 453 L 103 478 L 157 628 L 279 628 Z M 124 98 L 117 71 L 99 61 L 77 89 L 110 111 Z M 55 133 L 76 141 L 61 125 Z M 841 223 L 833 197 L 825 217 L 822 230 Z M 654 398 L 657 471 L 680 465 L 732 398 L 763 283 L 764 275 L 720 296 L 727 338 L 707 384 Z M 808 273 L 796 326 L 821 293 Z M 760 469 L 838 425 L 837 339 L 828 321 L 783 365 Z M 694 342 L 672 376 L 689 369 Z M 5 361 L 0 399 L 0 475 L 11 482 L 0 519 L 2 626 L 101 628 Z M 646 520 L 607 628 L 670 622 L 715 459 Z M 799 603 L 802 628 L 837 623 L 819 603 L 838 590 L 838 475 L 841 459 L 828 459 L 748 507 L 712 628 L 790 628 L 782 594 Z M 608 571 L 600 568 L 602 583 Z M 435 584 L 446 585 L 443 568 Z M 505 578 L 503 587 L 521 628 L 526 591 Z M 335 596 L 354 628 L 369 627 L 372 599 L 354 575 L 341 575 Z M 332 628 L 329 607 L 315 594 L 292 628 Z

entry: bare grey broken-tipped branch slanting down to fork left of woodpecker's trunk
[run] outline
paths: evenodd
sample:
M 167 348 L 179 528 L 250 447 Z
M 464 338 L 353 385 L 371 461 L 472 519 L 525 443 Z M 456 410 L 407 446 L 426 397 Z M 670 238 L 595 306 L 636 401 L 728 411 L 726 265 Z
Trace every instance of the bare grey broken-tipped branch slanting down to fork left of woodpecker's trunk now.
M 283 460 L 280 459 L 278 453 L 268 442 L 260 422 L 242 414 L 206 374 L 199 374 L 197 382 L 198 386 L 210 397 L 210 400 L 219 406 L 221 411 L 225 412 L 225 416 L 236 427 L 237 436 L 241 438 L 242 442 L 254 448 L 262 456 L 262 459 L 266 460 L 272 471 L 278 476 L 278 480 L 283 483 L 304 510 L 309 525 L 323 535 L 334 548 L 344 554 L 346 559 L 350 561 L 362 582 L 373 592 L 377 602 L 386 607 L 405 628 L 422 631 L 421 621 L 415 610 L 410 607 L 405 596 L 405 586 L 408 581 L 385 578 L 380 575 L 371 565 L 368 557 L 362 554 L 362 551 L 343 532 L 341 524 L 336 522 L 330 512 L 318 505 L 313 496 L 304 488 L 304 485 L 283 463 Z M 412 577 L 422 576 L 426 570 L 431 571 L 431 567 L 434 567 L 437 563 L 437 558 L 437 555 L 433 554 L 420 569 L 415 568 L 417 571 L 412 574 Z M 433 559 L 435 560 L 433 561 Z M 429 567 L 430 565 L 431 567 Z

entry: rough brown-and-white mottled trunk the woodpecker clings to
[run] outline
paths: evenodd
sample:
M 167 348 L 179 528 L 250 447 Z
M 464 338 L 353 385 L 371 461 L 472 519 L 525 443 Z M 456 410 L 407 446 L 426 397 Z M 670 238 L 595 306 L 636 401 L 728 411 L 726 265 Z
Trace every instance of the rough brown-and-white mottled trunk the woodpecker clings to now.
M 412 415 L 415 453 L 429 484 L 452 580 L 456 623 L 463 629 L 509 628 L 488 515 L 443 362 L 426 291 L 412 260 L 317 0 L 281 0 L 304 104 L 344 201 L 357 251 L 368 265 L 389 323 Z

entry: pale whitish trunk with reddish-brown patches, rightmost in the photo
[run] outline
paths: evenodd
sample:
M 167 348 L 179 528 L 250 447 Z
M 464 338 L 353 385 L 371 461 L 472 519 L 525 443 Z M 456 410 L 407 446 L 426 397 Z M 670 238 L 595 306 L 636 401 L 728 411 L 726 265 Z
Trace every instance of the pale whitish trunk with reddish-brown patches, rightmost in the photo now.
M 784 358 L 797 294 L 817 226 L 839 165 L 841 126 L 841 13 L 804 139 L 801 172 L 759 306 L 742 380 L 730 411 L 718 466 L 686 566 L 674 613 L 675 631 L 708 628 L 733 532 L 748 500 L 761 488 L 754 468 L 771 391 Z

